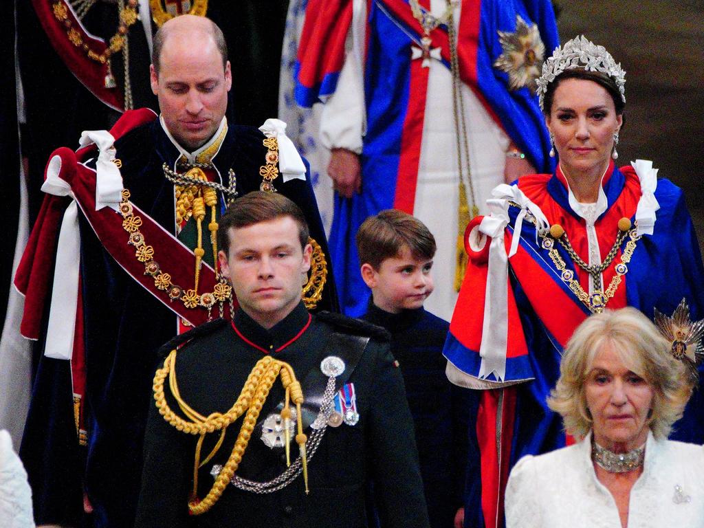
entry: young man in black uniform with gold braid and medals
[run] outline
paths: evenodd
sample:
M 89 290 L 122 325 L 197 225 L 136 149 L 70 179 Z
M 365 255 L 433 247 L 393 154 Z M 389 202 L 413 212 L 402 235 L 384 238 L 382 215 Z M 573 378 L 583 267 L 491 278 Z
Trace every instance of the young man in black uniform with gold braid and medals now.
M 284 196 L 248 194 L 220 225 L 239 310 L 165 347 L 137 528 L 366 527 L 369 482 L 382 527 L 427 527 L 388 336 L 308 313 L 308 227 Z

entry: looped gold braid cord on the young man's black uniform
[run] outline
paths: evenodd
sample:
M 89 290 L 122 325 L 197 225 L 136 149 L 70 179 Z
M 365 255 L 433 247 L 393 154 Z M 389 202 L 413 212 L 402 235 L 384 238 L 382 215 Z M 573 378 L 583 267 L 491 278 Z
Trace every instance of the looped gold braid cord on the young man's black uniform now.
M 154 399 L 156 400 L 156 407 L 159 410 L 159 414 L 161 414 L 164 417 L 164 420 L 166 420 L 170 425 L 184 433 L 197 434 L 200 436 L 198 443 L 196 444 L 196 456 L 193 467 L 193 491 L 188 502 L 188 508 L 191 514 L 200 515 L 201 513 L 206 513 L 213 507 L 220 496 L 222 496 L 222 492 L 225 491 L 225 487 L 230 483 L 234 473 L 237 471 L 239 463 L 242 460 L 242 455 L 244 455 L 244 451 L 249 444 L 249 439 L 251 438 L 254 426 L 256 425 L 259 417 L 259 413 L 262 410 L 262 406 L 264 405 L 274 382 L 279 376 L 281 377 L 282 386 L 284 386 L 284 389 L 286 390 L 286 399 L 284 408 L 281 411 L 281 417 L 287 426 L 284 427 L 284 434 L 286 436 L 287 460 L 290 460 L 288 425 L 290 423 L 289 420 L 291 420 L 291 409 L 289 408 L 289 401 L 294 402 L 297 411 L 296 416 L 300 417 L 301 403 L 303 403 L 303 390 L 301 389 L 301 384 L 298 380 L 296 380 L 296 375 L 291 365 L 284 363 L 284 361 L 274 359 L 271 356 L 265 356 L 258 360 L 256 365 L 254 365 L 234 405 L 225 413 L 212 413 L 208 417 L 205 417 L 191 408 L 180 395 L 178 384 L 176 382 L 176 353 L 176 350 L 172 350 L 164 361 L 164 366 L 158 369 L 156 371 L 156 375 L 154 375 Z M 176 403 L 182 413 L 186 416 L 186 419 L 174 413 L 166 402 L 166 398 L 164 396 L 164 382 L 167 376 L 169 378 L 169 389 L 171 394 L 176 400 Z M 230 458 L 228 458 L 225 466 L 222 467 L 222 471 L 218 474 L 218 477 L 215 479 L 215 483 L 213 484 L 213 487 L 210 488 L 210 491 L 208 491 L 208 494 L 203 497 L 203 499 L 199 499 L 199 468 L 206 465 L 206 463 L 213 458 L 215 453 L 218 452 L 220 446 L 222 446 L 222 441 L 225 439 L 227 427 L 242 415 L 245 415 L 244 420 L 241 428 L 239 429 L 237 440 L 232 448 L 232 453 L 230 453 Z M 206 434 L 213 433 L 215 431 L 220 431 L 220 439 L 218 439 L 217 444 L 215 444 L 213 451 L 210 451 L 210 454 L 208 454 L 205 460 L 201 462 L 201 447 L 203 446 L 203 439 L 205 439 Z M 306 440 L 307 437 L 303 434 L 303 424 L 301 420 L 298 420 L 296 444 L 298 444 L 298 449 L 301 453 L 301 461 L 303 463 L 303 482 L 305 482 L 306 493 L 308 493 Z

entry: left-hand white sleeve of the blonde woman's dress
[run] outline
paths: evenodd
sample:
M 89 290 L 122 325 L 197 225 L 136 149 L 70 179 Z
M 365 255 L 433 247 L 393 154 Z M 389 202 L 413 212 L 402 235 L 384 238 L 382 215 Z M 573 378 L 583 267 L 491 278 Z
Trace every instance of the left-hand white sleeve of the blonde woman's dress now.
M 541 527 L 541 509 L 537 498 L 540 493 L 532 455 L 521 458 L 511 470 L 506 484 L 504 510 L 506 528 Z

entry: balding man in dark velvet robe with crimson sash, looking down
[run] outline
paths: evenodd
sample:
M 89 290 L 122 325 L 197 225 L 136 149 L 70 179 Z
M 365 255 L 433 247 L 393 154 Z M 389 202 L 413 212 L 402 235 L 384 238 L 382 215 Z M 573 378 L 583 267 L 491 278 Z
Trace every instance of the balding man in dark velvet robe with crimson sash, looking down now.
M 73 350 L 68 353 L 71 361 L 42 357 L 20 451 L 34 491 L 39 525 L 132 526 L 156 349 L 180 330 L 220 313 L 218 303 L 206 310 L 208 303 L 203 303 L 202 296 L 197 306 L 189 306 L 186 294 L 192 282 L 181 280 L 183 291 L 173 289 L 179 259 L 184 251 L 191 259 L 194 252 L 202 256 L 201 289 L 196 282 L 195 290 L 199 294 L 210 291 L 204 284 L 206 275 L 213 275 L 215 269 L 216 247 L 208 236 L 208 225 L 216 223 L 227 201 L 258 189 L 263 174 L 273 177 L 273 187 L 306 213 L 311 236 L 327 254 L 305 166 L 300 158 L 296 165 L 290 151 L 285 152 L 287 139 L 280 127 L 278 132 L 269 130 L 268 135 L 277 138 L 272 143 L 272 138 L 256 129 L 227 124 L 232 73 L 218 27 L 206 18 L 183 16 L 166 23 L 156 42 L 151 87 L 158 96 L 160 117 L 144 110 L 127 112 L 111 129 L 106 144 L 92 137 L 97 149 L 87 145 L 75 154 L 68 149 L 56 151 L 47 168 L 47 184 L 50 180 L 68 182 L 72 193 L 47 196 L 39 213 L 42 222 L 37 222 L 18 270 L 20 291 L 30 292 L 23 329 L 32 328 L 36 335 L 24 333 L 39 339 L 44 348 L 56 348 L 51 338 L 46 339 L 45 329 L 47 319 L 51 327 L 51 310 L 60 303 L 56 295 L 49 300 L 47 292 L 52 289 L 51 277 L 63 284 L 65 275 L 70 275 L 52 268 L 54 251 L 62 251 L 61 240 L 57 243 L 58 225 L 62 218 L 66 223 L 64 210 L 75 200 L 80 290 L 75 320 L 67 314 L 63 322 L 75 325 Z M 115 211 L 99 205 L 102 184 L 109 180 L 106 174 L 115 172 L 113 165 L 119 169 L 119 188 L 129 191 L 129 196 L 122 191 L 122 201 L 118 198 L 113 203 Z M 217 196 L 215 206 L 206 204 L 201 227 L 196 225 L 194 201 L 182 198 L 188 191 L 184 187 L 192 186 L 175 187 L 169 180 L 174 172 L 183 175 L 194 165 L 210 180 L 209 185 L 196 186 L 196 195 L 201 187 L 208 187 Z M 291 165 L 303 170 L 296 173 L 294 167 L 290 172 Z M 184 209 L 176 213 L 176 206 Z M 128 217 L 144 222 L 137 226 L 141 231 L 130 227 Z M 120 234 L 120 225 L 127 232 Z M 142 235 L 141 241 L 134 239 L 135 231 Z M 142 260 L 135 249 L 137 253 L 149 249 L 153 260 Z M 139 272 L 134 271 L 135 263 L 141 266 Z M 149 268 L 151 263 L 161 269 L 154 271 Z M 157 279 L 165 280 L 167 275 L 170 287 L 160 287 Z M 42 287 L 37 289 L 37 284 Z M 322 291 L 320 308 L 337 307 L 331 285 L 328 281 Z M 53 287 L 56 294 L 56 284 Z

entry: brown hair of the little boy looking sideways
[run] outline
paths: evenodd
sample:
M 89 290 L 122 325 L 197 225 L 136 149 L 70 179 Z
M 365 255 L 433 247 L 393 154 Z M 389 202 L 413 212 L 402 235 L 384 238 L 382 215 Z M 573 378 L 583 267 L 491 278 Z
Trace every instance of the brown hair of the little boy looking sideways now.
M 359 228 L 356 237 L 360 265 L 369 264 L 375 270 L 387 258 L 408 247 L 413 258 L 429 260 L 435 255 L 435 237 L 417 218 L 397 209 L 382 210 L 370 216 Z

